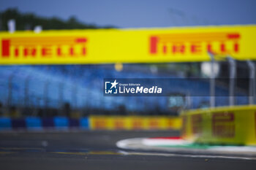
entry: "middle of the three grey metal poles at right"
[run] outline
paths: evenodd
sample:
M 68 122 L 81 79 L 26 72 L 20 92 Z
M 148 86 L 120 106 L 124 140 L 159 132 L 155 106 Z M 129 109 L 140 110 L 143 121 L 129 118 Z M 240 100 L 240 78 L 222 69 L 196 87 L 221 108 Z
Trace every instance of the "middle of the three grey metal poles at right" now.
M 236 61 L 233 58 L 227 58 L 228 63 L 230 64 L 230 96 L 229 103 L 230 106 L 235 105 L 235 78 L 236 78 Z

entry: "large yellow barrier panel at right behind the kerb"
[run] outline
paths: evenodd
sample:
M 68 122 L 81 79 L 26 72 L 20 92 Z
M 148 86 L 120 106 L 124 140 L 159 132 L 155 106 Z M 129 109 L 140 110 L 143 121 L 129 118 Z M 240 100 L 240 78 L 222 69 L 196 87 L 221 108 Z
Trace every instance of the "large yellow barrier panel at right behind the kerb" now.
M 256 105 L 182 112 L 182 137 L 208 144 L 256 145 Z

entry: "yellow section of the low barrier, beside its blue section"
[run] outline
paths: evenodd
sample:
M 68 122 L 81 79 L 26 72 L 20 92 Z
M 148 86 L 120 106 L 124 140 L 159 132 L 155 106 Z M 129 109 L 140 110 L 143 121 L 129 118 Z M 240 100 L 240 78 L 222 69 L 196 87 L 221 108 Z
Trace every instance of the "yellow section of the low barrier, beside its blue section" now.
M 164 116 L 90 116 L 93 130 L 179 130 L 179 117 Z

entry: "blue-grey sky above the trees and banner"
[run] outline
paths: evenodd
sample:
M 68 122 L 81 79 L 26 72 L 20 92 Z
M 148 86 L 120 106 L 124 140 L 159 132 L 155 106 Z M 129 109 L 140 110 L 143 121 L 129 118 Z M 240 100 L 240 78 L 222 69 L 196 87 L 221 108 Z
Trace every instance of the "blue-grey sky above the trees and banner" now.
M 255 24 L 256 0 L 1 0 L 0 11 L 17 7 L 45 17 L 120 28 Z

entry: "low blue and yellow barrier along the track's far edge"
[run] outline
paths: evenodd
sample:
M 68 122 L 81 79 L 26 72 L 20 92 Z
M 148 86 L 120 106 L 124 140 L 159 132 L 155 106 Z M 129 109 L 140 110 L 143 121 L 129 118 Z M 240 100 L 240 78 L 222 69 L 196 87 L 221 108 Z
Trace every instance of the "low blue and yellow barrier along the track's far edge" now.
M 179 117 L 164 116 L 90 116 L 78 119 L 67 117 L 0 117 L 0 131 L 12 130 L 179 130 Z

